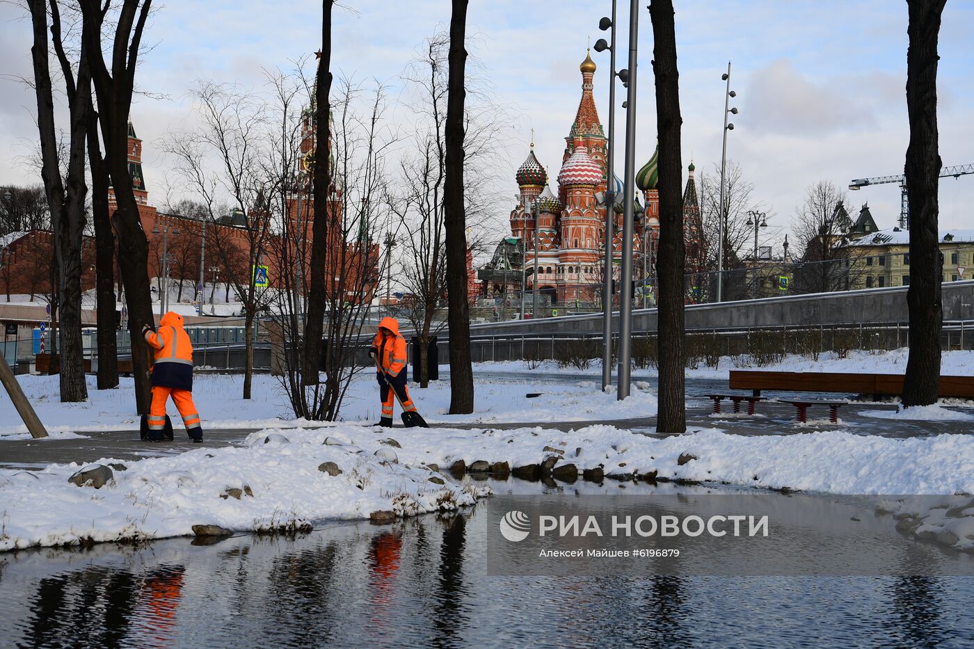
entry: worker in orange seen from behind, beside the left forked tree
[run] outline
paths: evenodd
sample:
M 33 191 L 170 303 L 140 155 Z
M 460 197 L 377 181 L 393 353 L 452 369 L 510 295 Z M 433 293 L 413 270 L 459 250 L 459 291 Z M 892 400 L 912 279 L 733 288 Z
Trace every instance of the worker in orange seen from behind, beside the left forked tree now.
M 152 367 L 152 406 L 149 408 L 149 432 L 157 435 L 166 427 L 166 401 L 172 397 L 182 415 L 186 434 L 193 441 L 203 441 L 200 414 L 193 404 L 193 344 L 183 328 L 182 316 L 169 312 L 159 321 L 159 329 L 142 327 L 145 342 L 155 350 Z

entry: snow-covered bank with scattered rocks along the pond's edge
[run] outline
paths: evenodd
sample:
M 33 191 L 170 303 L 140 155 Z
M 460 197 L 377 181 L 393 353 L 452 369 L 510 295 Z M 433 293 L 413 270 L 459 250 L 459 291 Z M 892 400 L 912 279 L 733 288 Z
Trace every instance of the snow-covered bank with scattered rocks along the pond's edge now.
M 389 453 L 396 463 L 388 461 Z M 563 433 L 543 428 L 383 431 L 341 423 L 315 430 L 269 429 L 251 434 L 240 447 L 129 462 L 100 489 L 69 483 L 67 478 L 81 469 L 74 464 L 36 474 L 2 471 L 0 550 L 186 535 L 196 524 L 255 530 L 375 511 L 418 514 L 486 495 L 466 479 L 437 476 L 432 464 L 444 470 L 457 460 L 468 466 L 485 460 L 516 468 L 552 456 L 556 468 L 574 465 L 566 469 L 574 474 L 599 468 L 609 476 L 842 494 L 974 492 L 974 436 L 965 435 L 889 439 L 829 431 L 743 437 L 710 429 L 660 439 L 604 425 Z M 323 462 L 334 462 L 343 473 L 322 473 Z M 228 488 L 244 493 L 237 493 L 239 499 L 221 498 Z M 958 536 L 952 545 L 974 546 L 974 534 Z

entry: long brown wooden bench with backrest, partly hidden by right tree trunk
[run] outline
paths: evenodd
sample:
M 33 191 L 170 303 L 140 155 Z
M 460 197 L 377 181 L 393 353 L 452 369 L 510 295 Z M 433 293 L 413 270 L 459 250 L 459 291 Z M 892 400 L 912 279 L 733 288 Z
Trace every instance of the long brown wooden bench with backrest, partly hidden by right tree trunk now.
M 731 369 L 730 387 L 731 390 L 751 390 L 755 397 L 760 397 L 762 390 L 835 392 L 882 397 L 903 393 L 903 375 Z M 974 376 L 941 376 L 940 396 L 974 399 Z

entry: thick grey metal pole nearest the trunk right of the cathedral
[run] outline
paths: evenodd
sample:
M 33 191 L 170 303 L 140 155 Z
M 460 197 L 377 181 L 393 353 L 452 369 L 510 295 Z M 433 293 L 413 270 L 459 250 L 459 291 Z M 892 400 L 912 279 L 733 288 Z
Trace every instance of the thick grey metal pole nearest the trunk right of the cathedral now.
M 625 96 L 625 198 L 622 210 L 622 269 L 618 302 L 618 391 L 619 400 L 629 396 L 629 358 L 632 333 L 632 217 L 636 186 L 636 42 L 639 37 L 639 2 L 629 0 L 629 68 Z

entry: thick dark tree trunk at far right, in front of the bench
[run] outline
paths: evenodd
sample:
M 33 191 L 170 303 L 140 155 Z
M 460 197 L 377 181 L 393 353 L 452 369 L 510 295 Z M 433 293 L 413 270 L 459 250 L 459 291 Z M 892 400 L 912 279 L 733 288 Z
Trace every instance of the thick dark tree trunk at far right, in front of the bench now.
M 937 37 L 946 0 L 908 0 L 907 112 L 910 145 L 906 180 L 910 200 L 910 357 L 903 404 L 928 405 L 940 391 L 940 282 L 943 261 L 937 233 L 940 153 L 937 134 Z

